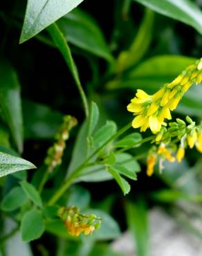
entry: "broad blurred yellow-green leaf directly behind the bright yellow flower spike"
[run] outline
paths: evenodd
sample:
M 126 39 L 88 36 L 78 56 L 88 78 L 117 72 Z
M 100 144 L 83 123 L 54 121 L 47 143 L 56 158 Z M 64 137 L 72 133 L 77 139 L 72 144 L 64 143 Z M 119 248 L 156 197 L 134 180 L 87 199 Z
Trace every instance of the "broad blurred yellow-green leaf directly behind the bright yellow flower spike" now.
M 132 68 L 122 80 L 108 84 L 109 89 L 146 89 L 153 93 L 167 82 L 171 82 L 196 59 L 176 55 L 159 55 Z

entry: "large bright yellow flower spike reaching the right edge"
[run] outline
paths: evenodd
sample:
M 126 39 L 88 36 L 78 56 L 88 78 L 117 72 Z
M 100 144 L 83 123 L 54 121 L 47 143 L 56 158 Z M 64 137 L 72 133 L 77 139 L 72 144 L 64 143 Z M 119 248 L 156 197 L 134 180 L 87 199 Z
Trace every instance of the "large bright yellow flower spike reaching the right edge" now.
M 153 134 L 160 131 L 165 119 L 171 119 L 170 111 L 176 109 L 183 94 L 192 86 L 202 81 L 202 58 L 188 66 L 176 79 L 165 84 L 154 95 L 138 89 L 136 96 L 127 106 L 127 110 L 134 113 L 132 127 L 140 127 L 146 131 L 150 127 Z

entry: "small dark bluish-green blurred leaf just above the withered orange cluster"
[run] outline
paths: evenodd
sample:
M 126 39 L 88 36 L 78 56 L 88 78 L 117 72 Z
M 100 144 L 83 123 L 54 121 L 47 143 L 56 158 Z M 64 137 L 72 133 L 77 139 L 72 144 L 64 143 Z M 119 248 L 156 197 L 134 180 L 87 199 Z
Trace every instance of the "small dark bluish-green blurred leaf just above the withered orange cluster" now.
M 67 206 L 77 205 L 83 210 L 89 206 L 90 200 L 91 194 L 89 191 L 76 185 L 69 190 Z

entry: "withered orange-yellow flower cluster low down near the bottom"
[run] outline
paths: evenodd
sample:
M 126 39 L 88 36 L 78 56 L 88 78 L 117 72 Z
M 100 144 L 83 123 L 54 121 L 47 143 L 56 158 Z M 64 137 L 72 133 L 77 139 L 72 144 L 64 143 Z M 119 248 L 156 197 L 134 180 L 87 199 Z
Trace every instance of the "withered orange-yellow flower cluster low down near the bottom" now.
M 91 234 L 94 230 L 100 228 L 101 219 L 95 214 L 82 214 L 80 208 L 71 206 L 69 208 L 59 208 L 58 216 L 64 222 L 64 226 L 70 235 L 75 237 L 81 233 Z

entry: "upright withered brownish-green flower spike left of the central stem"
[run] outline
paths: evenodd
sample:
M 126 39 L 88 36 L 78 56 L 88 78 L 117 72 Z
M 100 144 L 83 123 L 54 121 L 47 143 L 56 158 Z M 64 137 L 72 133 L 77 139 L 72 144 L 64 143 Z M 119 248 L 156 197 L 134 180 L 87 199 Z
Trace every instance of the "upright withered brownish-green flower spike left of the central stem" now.
M 55 134 L 57 140 L 52 147 L 48 149 L 48 156 L 45 158 L 45 164 L 48 165 L 48 172 L 62 163 L 62 155 L 66 147 L 66 140 L 68 140 L 69 132 L 77 125 L 77 120 L 72 116 L 65 116 L 61 127 Z

